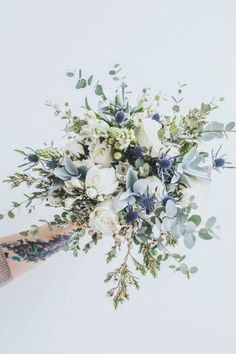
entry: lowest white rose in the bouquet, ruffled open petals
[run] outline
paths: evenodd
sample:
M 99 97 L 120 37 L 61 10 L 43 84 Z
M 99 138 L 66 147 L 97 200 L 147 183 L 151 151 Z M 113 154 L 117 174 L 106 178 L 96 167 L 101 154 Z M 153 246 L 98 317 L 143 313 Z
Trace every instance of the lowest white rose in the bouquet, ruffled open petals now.
M 111 236 L 120 230 L 120 224 L 113 209 L 112 200 L 97 205 L 90 214 L 89 226 L 105 236 Z

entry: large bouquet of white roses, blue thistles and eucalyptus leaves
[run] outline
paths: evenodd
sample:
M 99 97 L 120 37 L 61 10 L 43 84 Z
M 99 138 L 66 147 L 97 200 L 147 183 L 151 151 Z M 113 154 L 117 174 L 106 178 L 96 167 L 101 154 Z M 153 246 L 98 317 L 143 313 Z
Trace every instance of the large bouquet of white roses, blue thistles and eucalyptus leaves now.
M 23 202 L 13 202 L 7 215 L 13 218 L 22 205 L 31 213 L 39 201 L 58 208 L 54 219 L 46 222 L 49 228 L 75 225 L 64 245 L 74 256 L 110 238 L 106 261 L 122 251 L 120 264 L 105 279 L 114 284 L 107 294 L 117 307 L 129 299 L 129 286 L 139 288 L 136 273 L 156 277 L 163 263 L 187 278 L 197 272 L 176 249 L 181 244 L 191 249 L 199 238 L 217 238 L 216 218 L 203 222 L 197 199 L 214 170 L 233 167 L 221 146 L 212 150 L 211 141 L 234 131 L 235 123 L 209 119 L 223 98 L 181 113 L 185 85 L 179 85 L 164 113 L 160 104 L 166 96 L 143 89 L 132 103 L 120 65 L 114 65 L 109 75 L 115 84 L 113 94 L 94 83 L 93 75 L 85 78 L 81 70 L 67 73 L 77 90 L 95 93 L 96 108 L 87 96 L 75 115 L 68 102 L 62 110 L 47 102 L 65 121 L 68 141 L 63 148 L 51 144 L 16 150 L 22 154 L 22 170 L 6 182 L 13 188 L 25 183 L 33 191 Z M 37 229 L 32 225 L 22 235 L 36 235 Z

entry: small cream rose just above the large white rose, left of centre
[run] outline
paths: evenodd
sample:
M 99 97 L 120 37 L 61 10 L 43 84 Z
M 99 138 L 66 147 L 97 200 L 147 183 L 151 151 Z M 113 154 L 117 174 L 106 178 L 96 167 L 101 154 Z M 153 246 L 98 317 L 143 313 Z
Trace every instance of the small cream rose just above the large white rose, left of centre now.
M 102 143 L 91 144 L 89 151 L 91 159 L 98 165 L 108 166 L 113 161 L 111 146 L 107 145 L 105 141 Z

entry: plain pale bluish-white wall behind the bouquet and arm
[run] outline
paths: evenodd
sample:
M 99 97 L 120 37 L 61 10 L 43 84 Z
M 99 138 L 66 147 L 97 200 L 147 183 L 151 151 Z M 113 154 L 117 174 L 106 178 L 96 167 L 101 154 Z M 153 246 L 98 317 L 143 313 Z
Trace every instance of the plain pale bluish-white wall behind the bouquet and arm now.
M 44 101 L 81 105 L 68 69 L 102 80 L 120 62 L 137 92 L 186 82 L 186 106 L 225 96 L 215 118 L 235 120 L 235 12 L 234 0 L 0 0 L 1 180 L 21 163 L 14 148 L 60 142 L 62 124 Z M 235 148 L 232 136 L 224 152 L 236 164 Z M 191 281 L 163 269 L 114 311 L 103 284 L 107 241 L 77 259 L 62 252 L 1 288 L 1 353 L 235 353 L 235 173 L 214 174 L 202 209 L 217 216 L 221 240 L 187 252 L 199 265 Z M 0 210 L 23 191 L 0 184 Z M 0 234 L 50 215 L 22 212 Z

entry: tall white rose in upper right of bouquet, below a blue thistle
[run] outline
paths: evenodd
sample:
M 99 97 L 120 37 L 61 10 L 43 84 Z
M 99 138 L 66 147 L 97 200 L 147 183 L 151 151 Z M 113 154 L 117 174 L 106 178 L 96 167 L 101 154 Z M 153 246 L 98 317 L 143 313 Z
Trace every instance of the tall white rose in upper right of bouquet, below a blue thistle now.
M 157 157 L 162 144 L 158 138 L 160 124 L 154 119 L 146 118 L 141 122 L 137 130 L 137 141 L 141 147 L 152 148 L 151 156 Z

